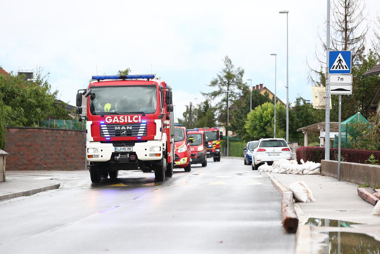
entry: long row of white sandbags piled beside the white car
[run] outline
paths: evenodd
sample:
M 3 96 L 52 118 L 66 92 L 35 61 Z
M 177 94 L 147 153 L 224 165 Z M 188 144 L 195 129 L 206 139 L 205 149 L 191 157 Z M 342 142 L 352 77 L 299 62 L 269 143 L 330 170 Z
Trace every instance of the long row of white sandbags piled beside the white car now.
M 280 159 L 273 161 L 272 165 L 264 163 L 259 166 L 259 171 L 279 173 L 279 174 L 300 174 L 300 175 L 316 175 L 321 173 L 321 163 L 306 161 L 301 159 L 301 164 L 295 160 Z

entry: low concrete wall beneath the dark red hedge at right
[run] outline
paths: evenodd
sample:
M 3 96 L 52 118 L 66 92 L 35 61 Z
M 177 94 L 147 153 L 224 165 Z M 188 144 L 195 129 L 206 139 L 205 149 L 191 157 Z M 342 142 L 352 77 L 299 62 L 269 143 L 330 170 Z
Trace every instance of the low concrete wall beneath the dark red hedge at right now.
M 337 179 L 338 162 L 321 160 L 321 174 Z M 340 163 L 340 180 L 363 184 L 367 181 L 366 177 L 371 187 L 374 185 L 380 186 L 380 166 L 353 162 Z

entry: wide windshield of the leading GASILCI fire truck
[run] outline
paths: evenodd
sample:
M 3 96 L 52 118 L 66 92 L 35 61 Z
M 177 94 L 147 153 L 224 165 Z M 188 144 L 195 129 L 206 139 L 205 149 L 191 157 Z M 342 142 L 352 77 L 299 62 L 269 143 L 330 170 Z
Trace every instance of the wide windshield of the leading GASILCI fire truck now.
M 155 86 L 112 86 L 91 88 L 90 111 L 92 114 L 117 113 L 119 115 L 157 109 Z

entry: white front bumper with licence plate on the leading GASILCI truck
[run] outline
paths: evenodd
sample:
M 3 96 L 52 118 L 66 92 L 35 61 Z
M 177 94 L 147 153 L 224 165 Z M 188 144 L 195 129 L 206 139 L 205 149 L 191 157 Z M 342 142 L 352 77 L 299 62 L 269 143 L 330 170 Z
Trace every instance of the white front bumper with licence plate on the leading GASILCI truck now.
M 133 160 L 161 160 L 163 151 L 165 151 L 165 144 L 165 141 L 160 140 L 125 144 L 122 142 L 114 144 L 87 142 L 86 159 L 87 161 L 117 161 L 115 158 L 133 158 L 135 156 L 137 158 L 133 158 Z

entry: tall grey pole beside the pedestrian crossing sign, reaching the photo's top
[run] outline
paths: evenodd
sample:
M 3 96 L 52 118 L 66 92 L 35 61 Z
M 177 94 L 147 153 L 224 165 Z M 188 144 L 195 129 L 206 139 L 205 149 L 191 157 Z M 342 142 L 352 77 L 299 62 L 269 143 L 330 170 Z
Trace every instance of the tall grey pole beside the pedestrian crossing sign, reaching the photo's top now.
M 330 160 L 330 94 L 329 94 L 329 51 L 330 51 L 330 0 L 327 0 L 326 22 L 326 111 L 325 111 L 325 160 Z

